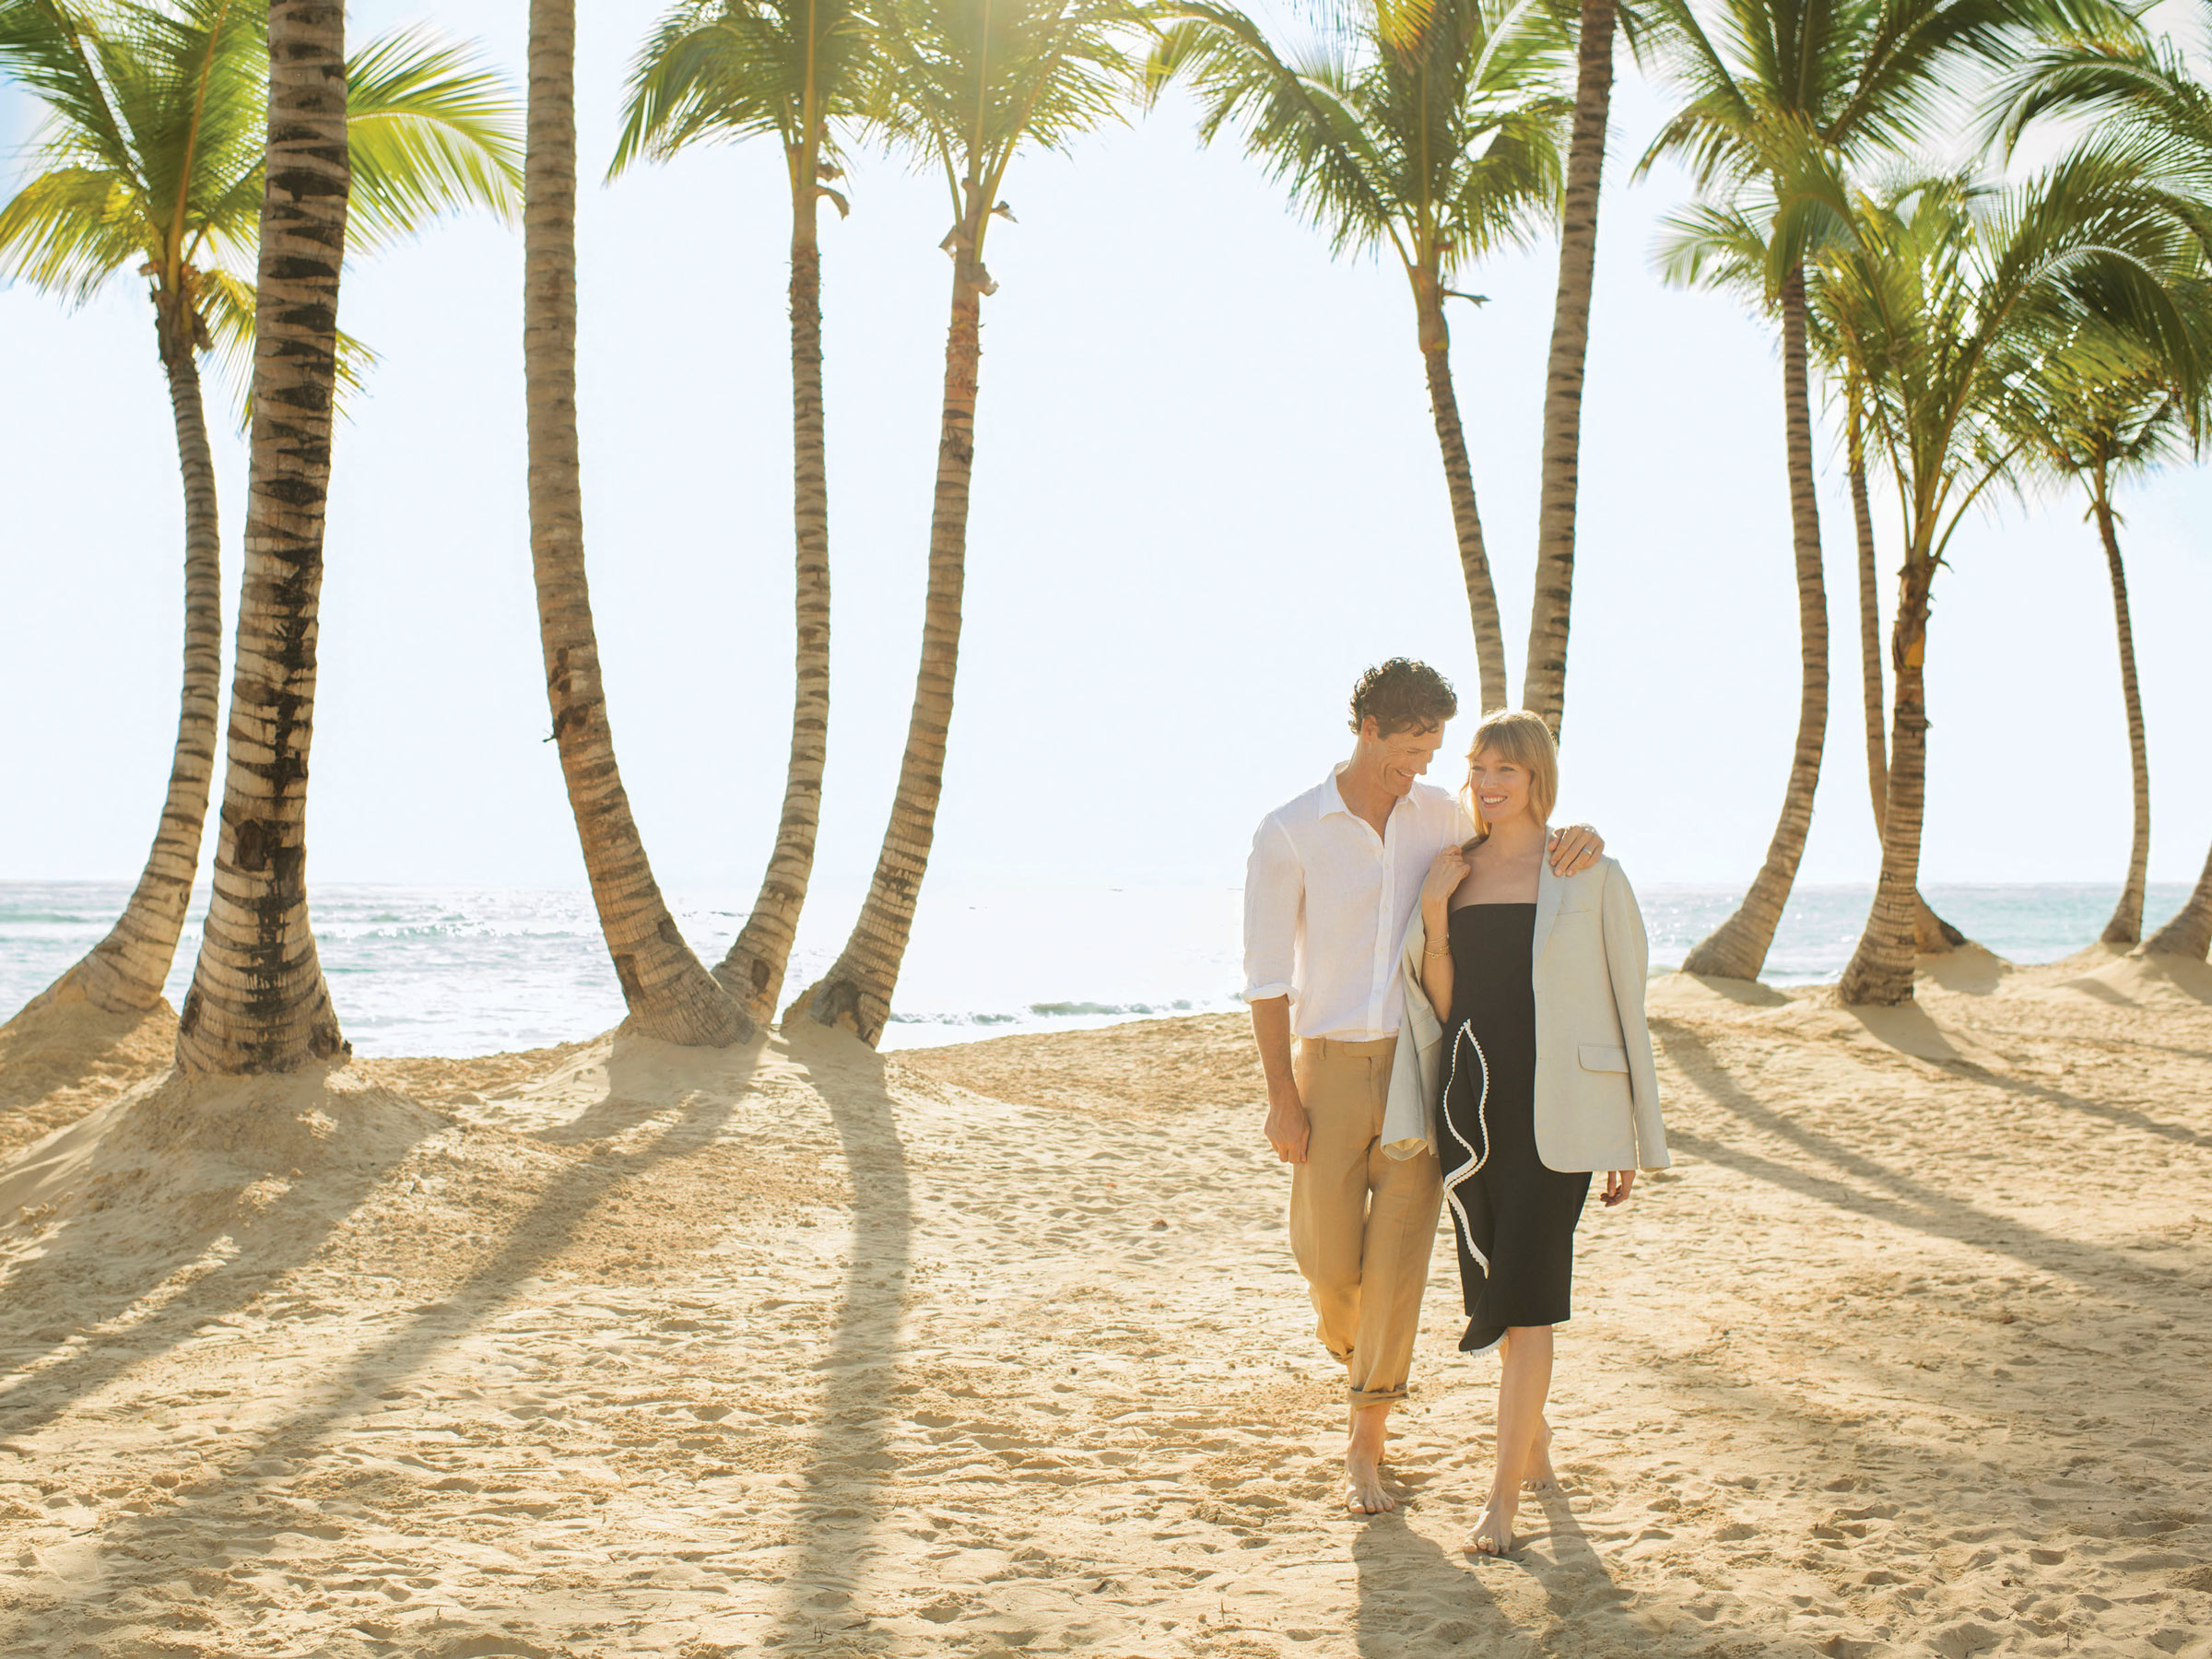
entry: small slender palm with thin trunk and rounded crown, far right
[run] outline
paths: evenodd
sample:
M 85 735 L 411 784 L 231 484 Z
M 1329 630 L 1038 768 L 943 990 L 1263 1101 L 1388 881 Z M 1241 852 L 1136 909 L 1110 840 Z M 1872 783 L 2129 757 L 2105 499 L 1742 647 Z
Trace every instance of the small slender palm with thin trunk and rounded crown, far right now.
M 2097 325 L 2037 361 L 2015 387 L 2002 418 L 2039 471 L 2081 484 L 2088 518 L 2097 522 L 2097 540 L 2104 544 L 2119 633 L 2119 688 L 2128 710 L 2135 834 L 2128 845 L 2128 880 L 2104 925 L 2101 942 L 2132 947 L 2143 938 L 2143 883 L 2150 869 L 2150 752 L 2143 697 L 2135 679 L 2135 628 L 2128 617 L 2128 573 L 2119 557 L 2112 484 L 2163 458 L 2188 453 L 2188 427 L 2194 422 L 2166 365 L 2139 341 Z

